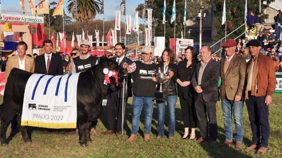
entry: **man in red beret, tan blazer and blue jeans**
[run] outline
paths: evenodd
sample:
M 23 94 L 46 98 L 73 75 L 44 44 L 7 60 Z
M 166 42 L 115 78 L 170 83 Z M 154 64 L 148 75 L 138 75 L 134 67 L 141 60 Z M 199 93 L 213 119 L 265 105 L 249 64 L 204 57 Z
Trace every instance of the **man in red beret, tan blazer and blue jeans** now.
M 242 92 L 246 75 L 246 60 L 235 53 L 236 41 L 229 39 L 221 44 L 226 56 L 221 59 L 220 97 L 223 111 L 225 141 L 224 146 L 233 144 L 232 114 L 235 120 L 235 148 L 239 149 L 243 140 L 243 102 Z

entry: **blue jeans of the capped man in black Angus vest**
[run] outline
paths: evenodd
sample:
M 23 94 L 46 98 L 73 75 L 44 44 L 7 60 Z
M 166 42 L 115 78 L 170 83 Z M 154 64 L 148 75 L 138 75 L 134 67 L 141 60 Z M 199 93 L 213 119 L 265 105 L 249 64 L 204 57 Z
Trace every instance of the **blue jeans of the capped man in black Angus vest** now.
M 140 114 L 142 111 L 142 106 L 145 106 L 145 126 L 144 134 L 149 134 L 151 132 L 152 114 L 154 109 L 154 97 L 137 97 L 133 95 L 132 107 L 132 130 L 131 134 L 137 135 L 139 130 Z

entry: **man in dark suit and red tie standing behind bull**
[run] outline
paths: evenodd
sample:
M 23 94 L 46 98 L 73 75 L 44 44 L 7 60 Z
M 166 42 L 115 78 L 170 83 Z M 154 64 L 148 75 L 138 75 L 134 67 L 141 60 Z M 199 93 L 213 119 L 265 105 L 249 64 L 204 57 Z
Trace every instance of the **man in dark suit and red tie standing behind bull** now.
M 60 55 L 52 52 L 52 41 L 49 39 L 44 40 L 43 49 L 45 53 L 35 58 L 34 73 L 63 75 L 63 61 Z

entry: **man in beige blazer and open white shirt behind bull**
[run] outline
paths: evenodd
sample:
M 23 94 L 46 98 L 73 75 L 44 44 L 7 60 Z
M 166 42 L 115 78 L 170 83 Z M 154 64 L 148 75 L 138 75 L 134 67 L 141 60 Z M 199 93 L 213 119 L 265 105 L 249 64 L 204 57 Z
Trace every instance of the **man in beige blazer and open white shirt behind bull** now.
M 9 77 L 9 74 L 13 68 L 19 68 L 21 70 L 25 70 L 28 72 L 34 72 L 34 59 L 32 57 L 27 56 L 26 53 L 27 44 L 24 41 L 20 41 L 17 46 L 18 55 L 12 56 L 7 61 L 6 71 L 5 71 L 5 80 Z M 11 135 L 15 135 L 19 130 L 16 121 L 17 116 L 14 117 L 11 124 Z

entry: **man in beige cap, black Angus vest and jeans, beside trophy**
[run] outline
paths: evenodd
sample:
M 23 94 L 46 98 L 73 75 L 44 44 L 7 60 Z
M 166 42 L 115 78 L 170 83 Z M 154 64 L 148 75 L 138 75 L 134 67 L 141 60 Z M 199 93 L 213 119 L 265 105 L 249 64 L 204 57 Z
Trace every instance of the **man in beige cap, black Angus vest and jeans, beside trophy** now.
M 132 116 L 132 129 L 131 135 L 126 142 L 132 142 L 137 138 L 139 130 L 140 114 L 142 106 L 145 107 L 145 127 L 144 127 L 144 141 L 150 140 L 154 96 L 156 92 L 156 83 L 152 81 L 155 71 L 158 67 L 150 59 L 152 56 L 152 47 L 144 46 L 141 51 L 143 61 L 135 61 L 131 65 L 123 63 L 123 67 L 127 68 L 128 73 L 132 73 L 132 92 L 133 92 L 133 116 Z

